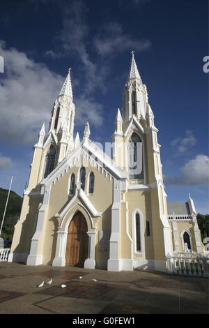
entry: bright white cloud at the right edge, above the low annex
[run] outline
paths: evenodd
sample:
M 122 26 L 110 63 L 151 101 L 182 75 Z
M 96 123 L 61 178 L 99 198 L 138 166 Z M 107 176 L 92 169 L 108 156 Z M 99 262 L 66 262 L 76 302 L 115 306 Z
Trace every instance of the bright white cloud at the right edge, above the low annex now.
M 209 157 L 197 155 L 180 168 L 177 177 L 164 177 L 167 185 L 200 186 L 209 184 Z

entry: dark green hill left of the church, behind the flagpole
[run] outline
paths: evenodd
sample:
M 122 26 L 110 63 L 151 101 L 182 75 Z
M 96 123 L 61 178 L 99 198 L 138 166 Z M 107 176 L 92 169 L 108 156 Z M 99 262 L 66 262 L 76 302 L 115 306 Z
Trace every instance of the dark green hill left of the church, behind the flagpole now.
M 8 196 L 8 189 L 0 188 L 0 228 L 1 221 L 3 218 L 3 211 L 6 205 L 6 199 Z M 6 215 L 3 221 L 3 228 L 1 232 L 1 237 L 3 239 L 10 240 L 13 238 L 14 225 L 17 223 L 20 217 L 20 211 L 22 208 L 22 197 L 17 195 L 14 191 L 10 191 L 10 196 L 8 199 L 8 205 L 6 209 Z

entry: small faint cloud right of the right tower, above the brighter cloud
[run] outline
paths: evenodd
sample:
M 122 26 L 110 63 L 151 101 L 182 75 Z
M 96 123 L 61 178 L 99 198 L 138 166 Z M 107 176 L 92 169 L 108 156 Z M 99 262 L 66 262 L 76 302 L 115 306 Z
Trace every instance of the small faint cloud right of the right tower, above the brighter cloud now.
M 185 137 L 178 137 L 171 142 L 172 149 L 175 156 L 185 155 L 197 143 L 192 131 L 187 130 Z

